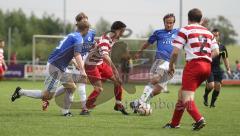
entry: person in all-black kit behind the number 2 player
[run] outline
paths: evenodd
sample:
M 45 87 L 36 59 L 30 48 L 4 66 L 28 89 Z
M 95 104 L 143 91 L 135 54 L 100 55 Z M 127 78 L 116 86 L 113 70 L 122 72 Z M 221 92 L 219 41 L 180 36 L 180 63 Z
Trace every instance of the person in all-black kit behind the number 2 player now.
M 212 93 L 212 99 L 210 107 L 215 107 L 215 101 L 217 100 L 217 97 L 220 93 L 221 84 L 222 84 L 222 77 L 223 77 L 223 70 L 220 67 L 220 60 L 223 59 L 223 62 L 225 64 L 225 67 L 227 69 L 227 74 L 231 75 L 231 69 L 229 66 L 228 61 L 228 52 L 224 45 L 220 43 L 220 32 L 218 29 L 213 29 L 212 33 L 215 37 L 215 39 L 218 42 L 219 45 L 219 55 L 212 60 L 212 68 L 211 68 L 211 74 L 207 79 L 206 88 L 205 88 L 205 94 L 203 96 L 204 99 L 204 105 L 208 106 L 208 94 L 213 90 Z

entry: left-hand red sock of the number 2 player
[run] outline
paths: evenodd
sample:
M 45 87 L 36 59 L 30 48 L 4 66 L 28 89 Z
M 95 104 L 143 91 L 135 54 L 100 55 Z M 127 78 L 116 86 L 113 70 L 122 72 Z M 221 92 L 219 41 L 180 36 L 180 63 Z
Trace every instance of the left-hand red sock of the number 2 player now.
M 171 122 L 173 126 L 177 126 L 180 124 L 180 120 L 182 118 L 184 110 L 185 110 L 184 104 L 182 103 L 182 101 L 178 101 L 176 103 L 175 110 L 172 117 L 172 122 Z

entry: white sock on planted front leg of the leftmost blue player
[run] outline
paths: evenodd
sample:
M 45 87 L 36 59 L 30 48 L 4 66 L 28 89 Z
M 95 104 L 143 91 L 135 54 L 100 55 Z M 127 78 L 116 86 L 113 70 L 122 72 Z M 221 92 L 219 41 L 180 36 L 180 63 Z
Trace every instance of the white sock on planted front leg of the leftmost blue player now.
M 70 90 L 67 90 L 64 97 L 62 113 L 66 114 L 69 112 L 71 104 L 73 102 L 73 93 Z

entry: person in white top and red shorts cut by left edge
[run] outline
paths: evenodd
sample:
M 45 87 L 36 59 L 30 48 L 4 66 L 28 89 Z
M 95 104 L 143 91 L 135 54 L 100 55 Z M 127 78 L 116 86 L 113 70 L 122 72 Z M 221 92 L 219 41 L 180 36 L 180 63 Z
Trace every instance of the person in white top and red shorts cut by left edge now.
M 7 70 L 7 65 L 5 63 L 4 56 L 3 56 L 4 46 L 5 46 L 5 42 L 0 39 L 0 80 L 2 80 L 3 75 L 4 75 L 5 71 Z

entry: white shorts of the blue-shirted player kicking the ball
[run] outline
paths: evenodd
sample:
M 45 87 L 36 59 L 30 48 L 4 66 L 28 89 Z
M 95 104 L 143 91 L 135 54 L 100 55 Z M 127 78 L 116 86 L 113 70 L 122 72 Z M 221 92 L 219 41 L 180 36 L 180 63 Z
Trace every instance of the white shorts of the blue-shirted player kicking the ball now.
M 159 79 L 158 84 L 163 89 L 167 88 L 168 81 L 172 79 L 172 77 L 169 76 L 168 74 L 168 68 L 169 68 L 168 61 L 156 59 L 150 70 L 150 79 L 153 78 Z

